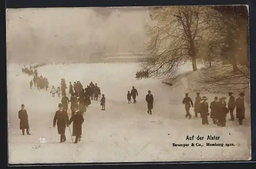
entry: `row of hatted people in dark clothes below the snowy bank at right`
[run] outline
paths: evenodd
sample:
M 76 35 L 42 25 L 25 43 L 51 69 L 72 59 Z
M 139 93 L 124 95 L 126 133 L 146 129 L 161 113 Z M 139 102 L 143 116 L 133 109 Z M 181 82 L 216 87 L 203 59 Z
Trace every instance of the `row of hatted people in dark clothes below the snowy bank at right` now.
M 229 92 L 229 101 L 226 103 L 227 97 L 218 98 L 217 96 L 214 98 L 214 101 L 210 103 L 210 106 L 206 100 L 208 98 L 206 96 L 201 97 L 200 93 L 197 93 L 195 99 L 195 106 L 190 97 L 188 97 L 188 93 L 185 94 L 185 98 L 182 103 L 185 105 L 186 110 L 186 118 L 191 118 L 189 109 L 190 107 L 194 107 L 195 117 L 198 117 L 198 114 L 201 115 L 202 124 L 209 124 L 208 116 L 212 119 L 213 124 L 216 124 L 220 127 L 226 126 L 226 116 L 228 113 L 230 114 L 230 121 L 234 121 L 233 111 L 236 108 L 236 118 L 238 119 L 239 125 L 242 125 L 243 119 L 245 119 L 245 104 L 244 104 L 244 93 L 240 93 L 237 99 L 234 98 L 233 93 Z M 211 109 L 209 111 L 209 108 Z

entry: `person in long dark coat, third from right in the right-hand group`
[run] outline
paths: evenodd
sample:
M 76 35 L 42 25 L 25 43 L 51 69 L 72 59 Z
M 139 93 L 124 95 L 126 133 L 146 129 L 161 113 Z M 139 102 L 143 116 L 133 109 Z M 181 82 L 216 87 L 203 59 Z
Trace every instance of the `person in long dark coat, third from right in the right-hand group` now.
M 226 107 L 227 103 L 226 103 L 226 97 L 222 97 L 219 100 L 218 103 L 218 126 L 220 127 L 225 127 L 226 126 L 226 116 L 228 114 L 228 109 Z

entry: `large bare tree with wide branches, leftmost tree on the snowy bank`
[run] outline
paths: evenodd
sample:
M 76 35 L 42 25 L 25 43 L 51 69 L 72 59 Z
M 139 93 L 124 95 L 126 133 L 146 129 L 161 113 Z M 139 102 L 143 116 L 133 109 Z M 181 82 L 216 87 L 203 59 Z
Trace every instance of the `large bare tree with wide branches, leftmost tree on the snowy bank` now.
M 144 67 L 156 75 L 173 76 L 180 65 L 190 61 L 193 71 L 197 71 L 207 10 L 210 8 L 201 6 L 151 8 L 153 23 L 147 25 L 151 55 L 144 60 Z

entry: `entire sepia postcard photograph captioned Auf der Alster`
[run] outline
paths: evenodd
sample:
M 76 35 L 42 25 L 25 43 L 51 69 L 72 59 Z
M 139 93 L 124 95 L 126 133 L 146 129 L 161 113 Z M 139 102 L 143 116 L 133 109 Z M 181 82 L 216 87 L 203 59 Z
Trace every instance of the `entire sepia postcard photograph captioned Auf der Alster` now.
M 7 9 L 8 163 L 250 160 L 248 11 Z

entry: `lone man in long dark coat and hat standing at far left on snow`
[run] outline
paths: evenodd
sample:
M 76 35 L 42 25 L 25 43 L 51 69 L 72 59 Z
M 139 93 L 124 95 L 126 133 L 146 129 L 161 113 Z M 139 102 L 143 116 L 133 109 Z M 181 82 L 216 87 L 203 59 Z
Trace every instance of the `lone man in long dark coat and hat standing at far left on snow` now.
M 22 130 L 22 135 L 25 135 L 25 129 L 27 131 L 27 134 L 29 133 L 29 118 L 27 110 L 25 109 L 25 105 L 22 104 L 22 109 L 18 111 L 18 118 L 20 120 L 19 122 L 19 129 Z

